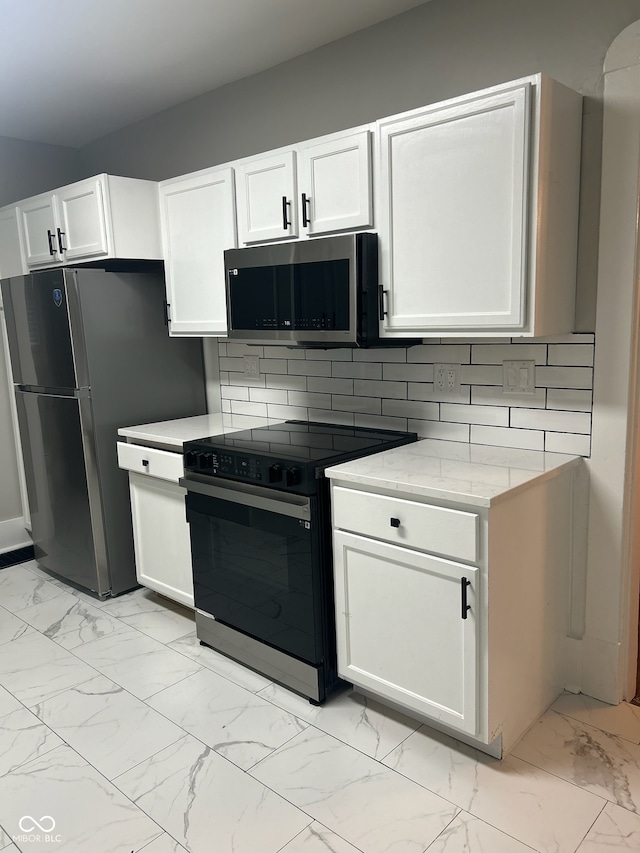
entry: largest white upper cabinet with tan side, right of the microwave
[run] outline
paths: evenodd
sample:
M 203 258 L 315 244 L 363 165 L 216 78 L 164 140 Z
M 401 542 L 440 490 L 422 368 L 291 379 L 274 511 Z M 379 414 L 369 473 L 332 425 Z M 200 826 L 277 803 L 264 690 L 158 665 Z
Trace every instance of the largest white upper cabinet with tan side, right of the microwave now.
M 542 75 L 377 123 L 383 334 L 571 331 L 580 129 Z

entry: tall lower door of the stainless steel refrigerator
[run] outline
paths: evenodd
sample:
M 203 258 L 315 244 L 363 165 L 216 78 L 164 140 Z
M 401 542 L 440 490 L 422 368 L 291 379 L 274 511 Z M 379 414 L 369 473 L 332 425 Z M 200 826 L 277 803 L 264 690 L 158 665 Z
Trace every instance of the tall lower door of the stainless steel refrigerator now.
M 35 556 L 45 569 L 109 590 L 91 400 L 16 392 Z

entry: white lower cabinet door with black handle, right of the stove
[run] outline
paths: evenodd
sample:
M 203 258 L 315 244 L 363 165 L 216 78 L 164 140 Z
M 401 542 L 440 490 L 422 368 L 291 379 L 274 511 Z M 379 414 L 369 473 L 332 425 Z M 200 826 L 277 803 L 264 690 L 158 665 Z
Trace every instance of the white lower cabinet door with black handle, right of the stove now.
M 478 570 L 342 531 L 333 541 L 339 674 L 476 734 Z

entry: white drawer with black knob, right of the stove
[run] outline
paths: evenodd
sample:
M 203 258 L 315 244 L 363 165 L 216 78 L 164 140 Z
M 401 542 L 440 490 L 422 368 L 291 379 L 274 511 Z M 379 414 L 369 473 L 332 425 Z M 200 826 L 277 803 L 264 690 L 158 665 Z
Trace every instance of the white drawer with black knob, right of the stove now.
M 467 562 L 478 562 L 478 515 L 355 489 L 332 489 L 333 524 Z

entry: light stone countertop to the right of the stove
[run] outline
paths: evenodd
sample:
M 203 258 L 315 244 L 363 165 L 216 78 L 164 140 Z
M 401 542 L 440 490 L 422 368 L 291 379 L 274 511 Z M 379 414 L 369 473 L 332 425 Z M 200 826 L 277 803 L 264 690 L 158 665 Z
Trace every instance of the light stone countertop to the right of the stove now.
M 488 507 L 580 460 L 562 453 L 423 439 L 334 465 L 325 474 L 334 484 Z

